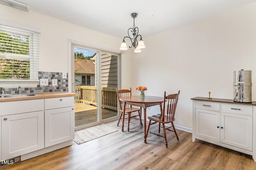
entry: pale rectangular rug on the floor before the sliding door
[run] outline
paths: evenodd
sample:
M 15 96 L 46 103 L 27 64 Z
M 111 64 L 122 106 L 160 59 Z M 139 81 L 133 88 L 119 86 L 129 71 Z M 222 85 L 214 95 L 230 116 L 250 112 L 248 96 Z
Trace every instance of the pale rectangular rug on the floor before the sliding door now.
M 112 128 L 106 124 L 101 124 L 75 131 L 75 138 L 73 140 L 77 144 L 81 144 L 116 131 L 118 130 L 115 128 Z

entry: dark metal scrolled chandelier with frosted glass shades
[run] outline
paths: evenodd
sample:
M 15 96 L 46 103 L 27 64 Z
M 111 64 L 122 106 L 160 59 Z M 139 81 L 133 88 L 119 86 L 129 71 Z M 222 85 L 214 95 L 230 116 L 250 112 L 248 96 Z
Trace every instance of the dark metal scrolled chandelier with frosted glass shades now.
M 132 45 L 129 46 L 130 48 L 134 47 L 134 52 L 135 53 L 140 53 L 141 52 L 141 48 L 145 48 L 146 46 L 144 45 L 144 42 L 142 40 L 142 37 L 141 35 L 138 35 L 139 33 L 139 29 L 138 27 L 135 26 L 135 23 L 134 23 L 134 19 L 138 16 L 137 13 L 132 13 L 131 14 L 132 18 L 133 18 L 133 26 L 132 28 L 129 28 L 128 29 L 128 36 L 124 37 L 125 38 L 129 38 L 132 42 Z M 140 37 L 140 40 L 138 41 L 137 38 Z M 122 44 L 121 44 L 121 47 L 120 47 L 121 50 L 127 50 L 127 46 L 126 46 L 126 42 L 123 40 Z

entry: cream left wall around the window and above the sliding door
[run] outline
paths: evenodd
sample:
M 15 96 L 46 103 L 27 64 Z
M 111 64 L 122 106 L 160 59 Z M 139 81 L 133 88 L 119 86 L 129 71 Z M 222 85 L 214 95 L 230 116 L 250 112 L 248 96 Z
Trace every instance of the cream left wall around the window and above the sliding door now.
M 122 40 L 33 11 L 0 4 L 0 19 L 41 29 L 39 71 L 68 72 L 68 39 L 119 50 Z M 81 22 L 86 22 L 81 18 Z

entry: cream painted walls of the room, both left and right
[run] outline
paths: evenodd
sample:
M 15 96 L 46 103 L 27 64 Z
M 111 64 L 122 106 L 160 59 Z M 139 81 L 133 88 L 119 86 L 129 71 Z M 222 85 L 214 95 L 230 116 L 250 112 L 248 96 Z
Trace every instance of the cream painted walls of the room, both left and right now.
M 39 71 L 68 71 L 68 39 L 118 50 L 122 40 L 36 12 L 0 5 L 0 19 L 40 28 Z M 146 95 L 177 93 L 175 124 L 192 128 L 192 97 L 233 99 L 233 71 L 252 70 L 256 101 L 256 3 L 148 38 L 141 53 L 122 55 L 122 88 Z M 86 21 L 81 21 L 86 22 Z M 141 33 L 143 36 L 143 33 Z M 159 107 L 150 107 L 148 115 Z

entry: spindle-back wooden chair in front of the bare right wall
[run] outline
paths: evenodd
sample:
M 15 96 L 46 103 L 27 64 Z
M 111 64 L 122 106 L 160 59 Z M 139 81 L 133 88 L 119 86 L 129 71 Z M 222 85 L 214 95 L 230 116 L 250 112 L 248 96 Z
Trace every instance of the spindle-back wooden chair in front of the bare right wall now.
M 146 136 L 148 136 L 150 125 L 153 125 L 155 123 L 159 123 L 158 134 L 154 133 L 154 132 L 150 132 L 150 133 L 152 133 L 154 135 L 157 135 L 157 136 L 160 136 L 160 137 L 163 137 L 165 139 L 166 148 L 168 148 L 167 139 L 166 139 L 166 130 L 174 132 L 176 134 L 177 140 L 179 140 L 178 134 L 177 134 L 176 129 L 175 129 L 174 124 L 173 124 L 173 122 L 175 121 L 174 115 L 175 115 L 179 95 L 180 95 L 180 91 L 178 91 L 177 94 L 172 94 L 172 95 L 168 95 L 168 96 L 166 96 L 166 92 L 164 92 L 164 106 L 161 110 L 161 114 L 153 115 L 153 116 L 148 117 L 149 123 L 148 123 L 148 130 L 146 132 Z M 167 108 L 166 108 L 166 105 L 167 105 Z M 167 111 L 165 111 L 165 109 Z M 154 122 L 151 123 L 151 121 L 154 121 Z M 165 127 L 166 123 L 171 123 L 171 126 L 170 127 Z M 162 128 L 163 128 L 163 131 L 164 131 L 164 136 L 160 135 L 160 125 L 161 124 L 162 124 Z

